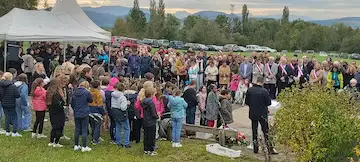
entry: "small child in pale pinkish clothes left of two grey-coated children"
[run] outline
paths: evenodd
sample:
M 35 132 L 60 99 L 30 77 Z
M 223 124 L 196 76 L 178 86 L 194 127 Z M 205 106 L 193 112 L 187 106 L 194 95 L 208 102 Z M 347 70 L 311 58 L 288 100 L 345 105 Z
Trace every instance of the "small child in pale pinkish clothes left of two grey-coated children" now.
M 201 86 L 199 89 L 199 93 L 196 95 L 199 101 L 198 104 L 198 110 L 197 113 L 198 114 L 197 118 L 200 118 L 200 125 L 202 126 L 207 126 L 206 124 L 206 119 L 205 119 L 205 111 L 206 111 L 206 86 Z M 197 124 L 197 123 L 196 123 Z

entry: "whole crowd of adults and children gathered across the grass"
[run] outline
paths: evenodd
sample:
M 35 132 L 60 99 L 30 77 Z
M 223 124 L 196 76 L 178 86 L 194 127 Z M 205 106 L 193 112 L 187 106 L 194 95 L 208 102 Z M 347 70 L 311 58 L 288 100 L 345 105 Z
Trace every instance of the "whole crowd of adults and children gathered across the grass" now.
M 263 126 L 264 121 L 254 109 L 261 107 L 260 115 L 267 112 L 270 99 L 285 88 L 323 85 L 357 92 L 360 81 L 356 62 L 333 62 L 331 58 L 318 62 L 306 56 L 289 59 L 221 51 L 208 56 L 205 51 L 180 53 L 163 48 L 151 54 L 142 46 L 110 51 L 106 44 L 76 50 L 68 46 L 64 57 L 59 43 L 49 42 L 34 43 L 26 51 L 20 48 L 19 62 L 3 69 L 8 72 L 0 72 L 0 110 L 5 114 L 5 130 L 0 129 L 0 134 L 20 137 L 19 131 L 32 131 L 32 138 L 46 138 L 43 126 L 49 112 L 48 145 L 63 147 L 60 138 L 65 123 L 73 118 L 74 150 L 83 152 L 91 151 L 89 132 L 94 145 L 103 142 L 101 134 L 108 132 L 111 143 L 130 148 L 131 141 L 140 142 L 143 130 L 144 153 L 157 155 L 156 139 L 162 138 L 159 120 L 164 113 L 171 114 L 172 146 L 182 147 L 182 123 L 228 127 L 233 122 L 232 103 L 258 104 L 247 93 L 253 85 L 263 86 L 266 93 L 262 94 L 269 97 L 265 107 L 250 106 L 257 146 L 257 123 Z M 36 115 L 32 129 L 31 108 Z M 2 114 L 0 111 L 0 119 Z

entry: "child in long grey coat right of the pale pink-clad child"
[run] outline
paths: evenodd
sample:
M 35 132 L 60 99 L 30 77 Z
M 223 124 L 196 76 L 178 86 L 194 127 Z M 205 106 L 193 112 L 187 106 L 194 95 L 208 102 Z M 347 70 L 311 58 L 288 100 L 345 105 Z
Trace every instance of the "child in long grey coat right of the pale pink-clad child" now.
M 208 127 L 214 127 L 215 120 L 218 119 L 220 102 L 217 95 L 217 87 L 214 84 L 209 86 L 210 92 L 206 100 L 206 119 L 208 120 Z

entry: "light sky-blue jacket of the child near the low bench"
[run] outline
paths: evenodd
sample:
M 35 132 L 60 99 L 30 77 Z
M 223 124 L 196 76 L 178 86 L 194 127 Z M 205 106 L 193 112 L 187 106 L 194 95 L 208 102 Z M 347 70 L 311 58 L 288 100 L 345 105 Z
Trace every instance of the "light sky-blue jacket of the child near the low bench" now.
M 187 107 L 187 103 L 180 96 L 169 96 L 168 107 L 171 109 L 171 117 L 172 118 L 184 118 L 185 109 Z

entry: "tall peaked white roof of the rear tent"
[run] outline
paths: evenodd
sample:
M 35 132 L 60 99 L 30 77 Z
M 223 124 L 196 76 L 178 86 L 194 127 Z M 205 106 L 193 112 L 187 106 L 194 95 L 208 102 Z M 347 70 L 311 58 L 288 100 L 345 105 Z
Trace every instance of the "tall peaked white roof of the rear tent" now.
M 57 0 L 51 12 L 69 13 L 81 25 L 97 33 L 111 36 L 111 33 L 97 26 L 81 9 L 76 0 Z

